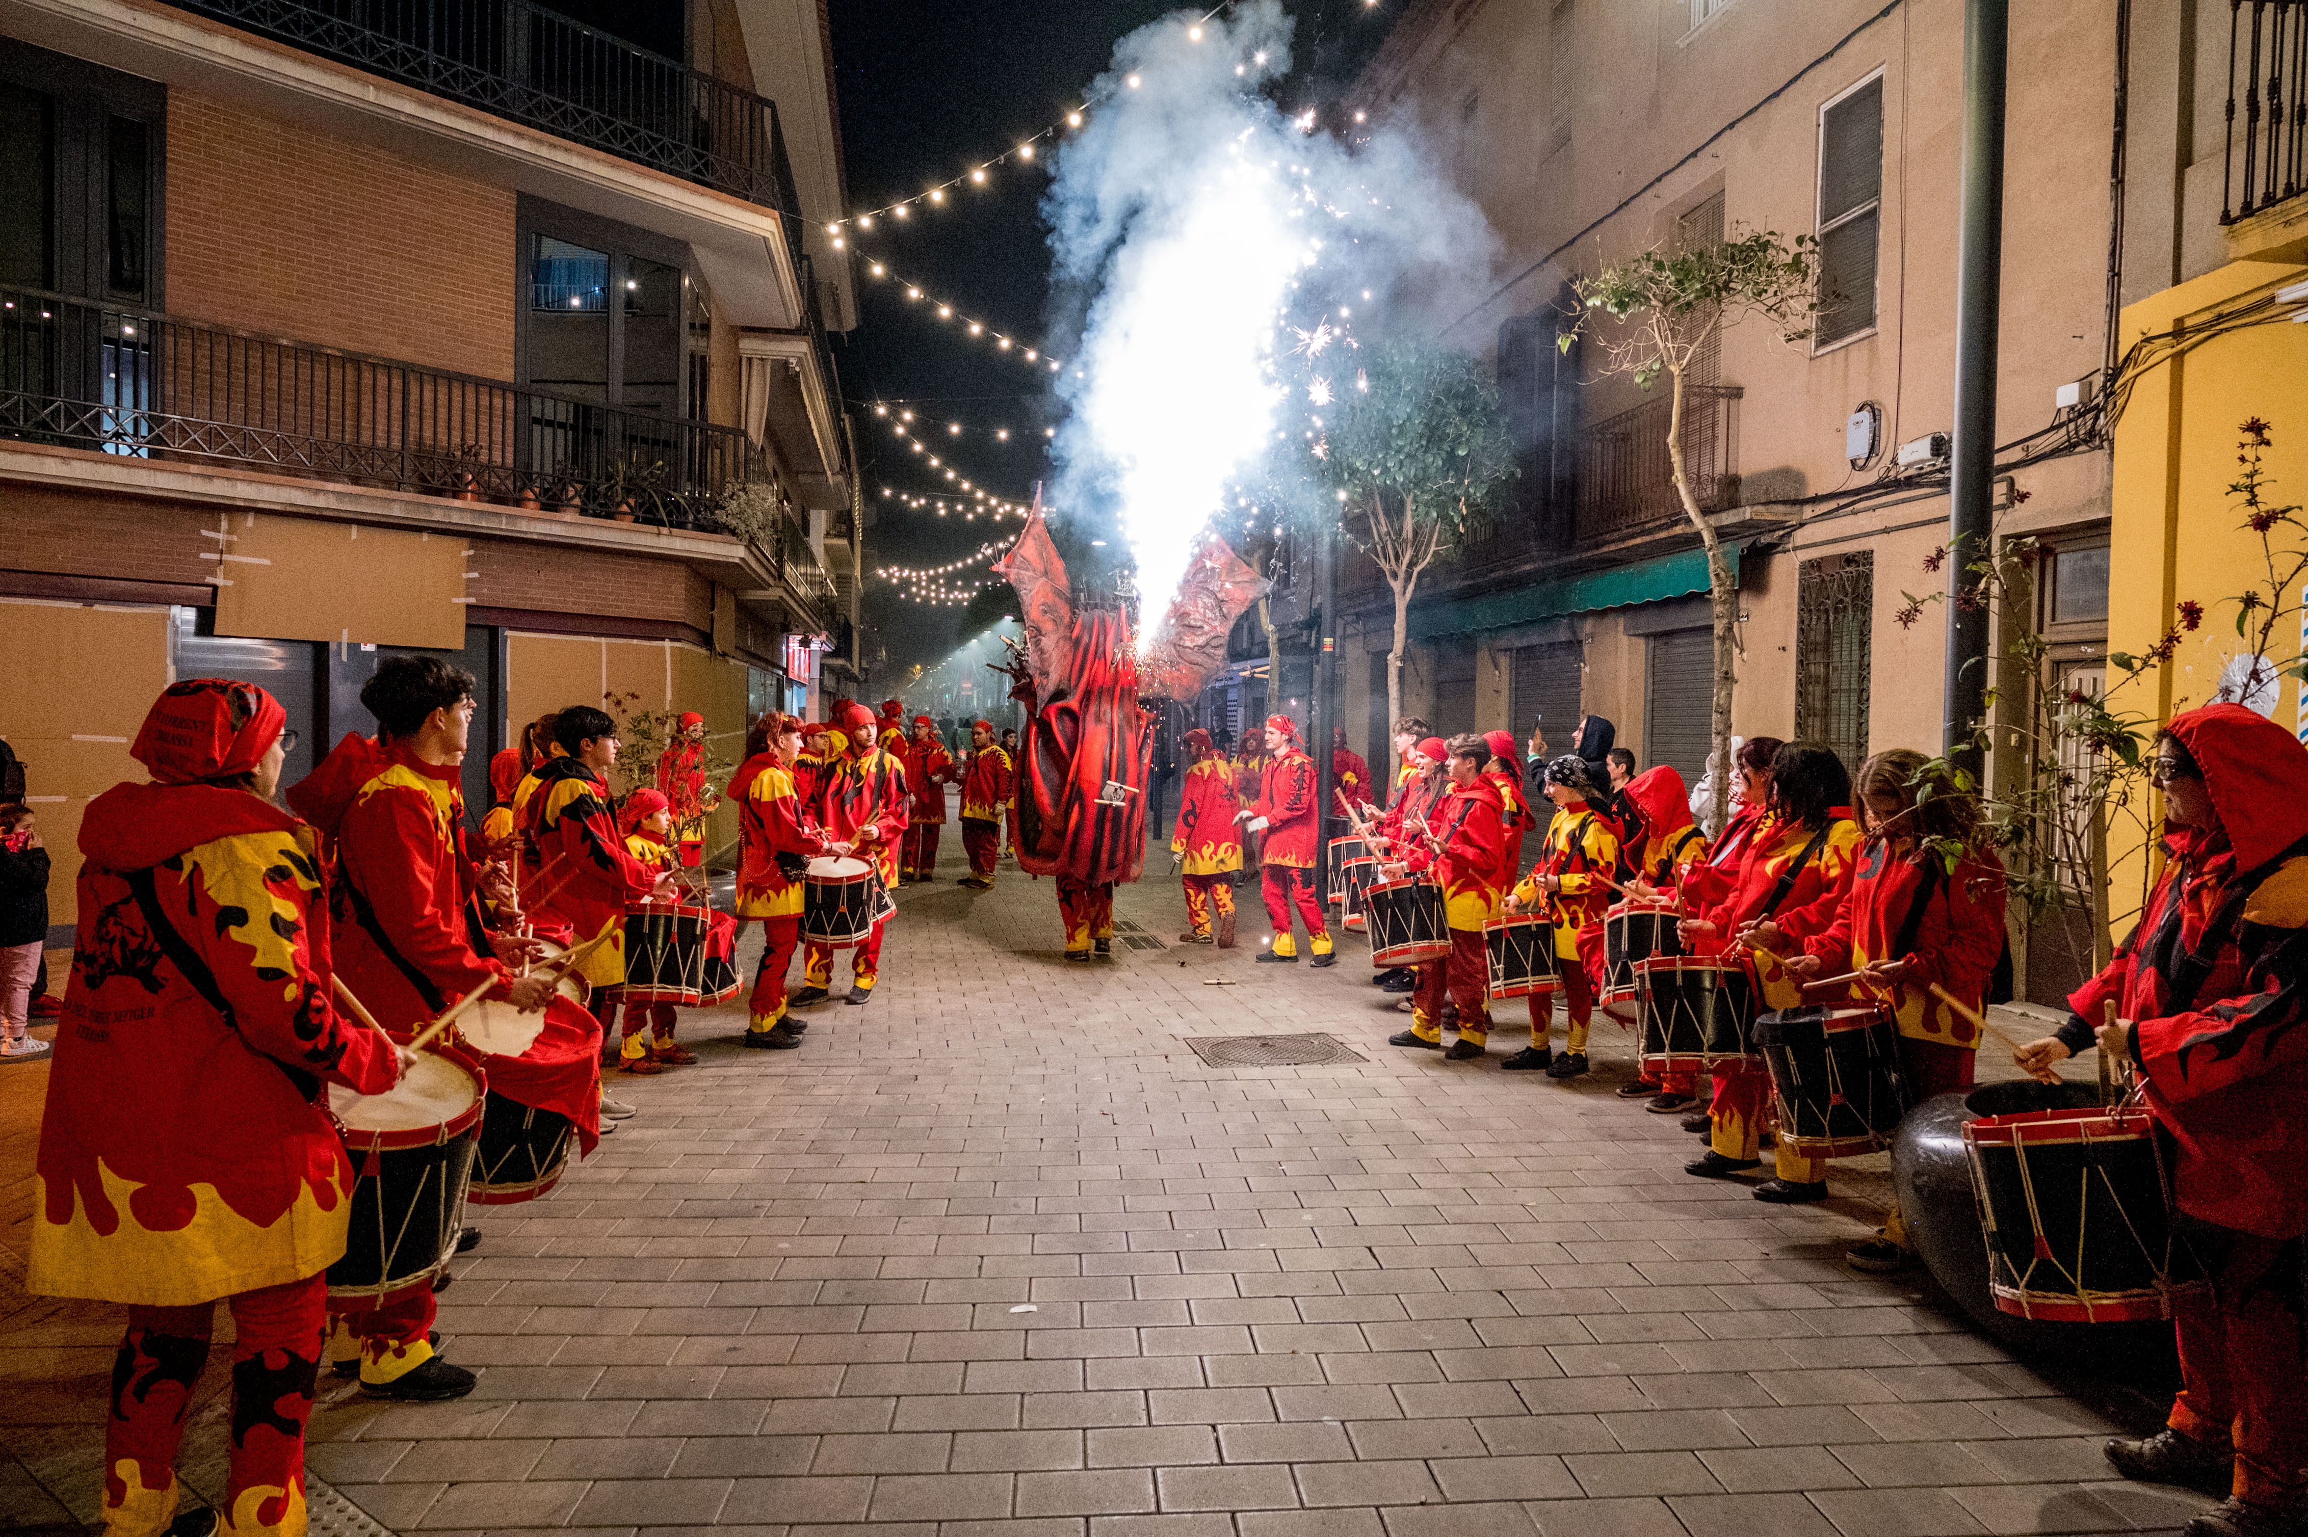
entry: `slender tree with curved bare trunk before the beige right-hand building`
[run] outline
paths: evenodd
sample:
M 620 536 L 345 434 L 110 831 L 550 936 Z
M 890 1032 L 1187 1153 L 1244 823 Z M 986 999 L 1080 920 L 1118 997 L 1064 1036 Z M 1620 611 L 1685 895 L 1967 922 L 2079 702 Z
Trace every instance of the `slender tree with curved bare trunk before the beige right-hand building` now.
M 1729 328 L 1761 316 L 1782 339 L 1812 335 L 1819 312 L 1819 242 L 1775 231 L 1733 231 L 1719 245 L 1639 252 L 1590 277 L 1574 277 L 1579 314 L 1558 335 L 1569 351 L 1581 330 L 1599 330 L 1604 374 L 1629 374 L 1643 390 L 1666 376 L 1666 459 L 1683 515 L 1708 552 L 1708 598 L 1715 614 L 1715 699 L 1710 762 L 1731 762 L 1731 690 L 1738 681 L 1738 572 L 1715 524 L 1699 508 L 1683 455 L 1683 402 L 1692 362 Z M 1613 321 L 1597 328 L 1597 316 Z M 1717 773 L 1710 826 L 1729 815 L 1731 775 Z

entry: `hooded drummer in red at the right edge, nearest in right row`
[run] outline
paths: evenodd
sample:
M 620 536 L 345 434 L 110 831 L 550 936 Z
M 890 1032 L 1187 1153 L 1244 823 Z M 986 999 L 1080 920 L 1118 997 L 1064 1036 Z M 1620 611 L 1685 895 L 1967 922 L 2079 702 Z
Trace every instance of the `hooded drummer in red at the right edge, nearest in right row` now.
M 2110 1440 L 2107 1461 L 2225 1491 L 2188 1537 L 2292 1535 L 2308 1516 L 2308 752 L 2241 704 L 2206 704 L 2163 729 L 2149 782 L 2167 863 L 2140 925 L 2015 1062 L 2050 1082 L 2098 1045 L 2137 1073 L 2170 1138 L 2174 1235 L 2209 1279 L 2172 1292 L 2165 1429 Z

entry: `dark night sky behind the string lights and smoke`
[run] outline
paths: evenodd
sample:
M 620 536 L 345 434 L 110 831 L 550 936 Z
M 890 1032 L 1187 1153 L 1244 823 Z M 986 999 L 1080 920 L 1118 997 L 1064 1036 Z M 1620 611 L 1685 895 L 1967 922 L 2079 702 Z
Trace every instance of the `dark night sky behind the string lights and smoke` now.
M 1290 2 L 1297 69 L 1279 99 L 1290 108 L 1334 99 L 1401 5 Z M 831 0 L 849 208 L 919 196 L 1057 122 L 1106 69 L 1117 39 L 1177 9 L 1166 0 Z M 886 261 L 923 291 L 1041 344 L 1050 256 L 1036 210 L 1046 182 L 1041 168 L 1013 162 L 990 173 L 986 189 L 958 187 L 944 208 L 921 205 L 907 222 L 877 219 L 854 242 L 859 330 L 835 342 L 835 360 L 859 418 L 865 498 L 877 508 L 865 535 L 865 628 L 889 651 L 877 681 L 896 683 L 907 662 L 942 658 L 962 639 L 962 609 L 909 602 L 870 572 L 891 561 L 942 565 L 1018 524 L 972 524 L 960 512 L 939 519 L 882 501 L 884 485 L 930 492 L 942 482 L 872 404 L 896 411 L 905 399 L 935 438 L 946 438 L 946 422 L 962 422 L 967 436 L 949 462 L 997 496 L 1029 501 L 1034 482 L 1048 478 L 1041 429 L 1057 422 L 1057 402 L 1046 374 L 926 318 L 900 288 L 863 277 L 863 263 Z M 1011 441 L 995 443 L 995 427 L 1009 427 Z

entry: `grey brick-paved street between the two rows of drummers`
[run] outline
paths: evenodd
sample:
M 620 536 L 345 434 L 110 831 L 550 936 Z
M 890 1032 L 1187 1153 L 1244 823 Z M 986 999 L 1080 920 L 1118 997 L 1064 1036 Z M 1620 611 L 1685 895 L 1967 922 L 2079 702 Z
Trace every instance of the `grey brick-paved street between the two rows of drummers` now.
M 1119 914 L 1161 944 L 1069 967 L 1050 884 L 967 893 L 953 845 L 868 1009 L 812 1011 L 799 1052 L 688 1018 L 699 1066 L 619 1080 L 639 1119 L 480 1214 L 441 1309 L 480 1389 L 328 1385 L 316 1479 L 392 1532 L 1929 1537 L 2200 1505 L 2107 1482 L 2112 1422 L 1844 1269 L 1865 1202 L 1685 1177 L 1694 1140 L 1611 1096 L 1627 1036 L 1576 1087 L 1392 1050 L 1359 942 L 1260 967 L 1244 912 L 1249 949 L 1175 949 L 1159 863 Z M 1369 1062 L 1184 1043 L 1311 1029 Z M 118 1325 L 21 1295 L 37 1073 L 0 1075 L 0 1512 L 65 1525 Z M 187 1463 L 222 1435 L 203 1387 Z

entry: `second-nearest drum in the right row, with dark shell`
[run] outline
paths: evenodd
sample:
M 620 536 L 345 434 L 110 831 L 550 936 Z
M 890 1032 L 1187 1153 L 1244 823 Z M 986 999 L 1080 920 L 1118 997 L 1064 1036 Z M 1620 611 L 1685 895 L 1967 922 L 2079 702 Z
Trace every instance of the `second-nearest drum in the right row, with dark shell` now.
M 1876 1004 L 1777 1009 L 1754 1022 L 1779 1142 L 1805 1159 L 1883 1152 L 1906 1115 L 1899 1029 Z

